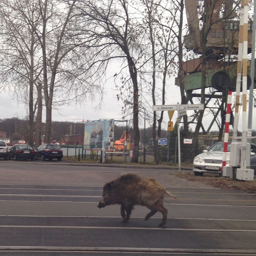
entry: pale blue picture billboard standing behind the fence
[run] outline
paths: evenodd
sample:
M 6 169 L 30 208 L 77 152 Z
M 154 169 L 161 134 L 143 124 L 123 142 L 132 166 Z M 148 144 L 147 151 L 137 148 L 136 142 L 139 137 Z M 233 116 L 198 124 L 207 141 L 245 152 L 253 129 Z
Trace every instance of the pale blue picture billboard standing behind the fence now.
M 84 145 L 88 148 L 114 149 L 114 119 L 86 122 Z

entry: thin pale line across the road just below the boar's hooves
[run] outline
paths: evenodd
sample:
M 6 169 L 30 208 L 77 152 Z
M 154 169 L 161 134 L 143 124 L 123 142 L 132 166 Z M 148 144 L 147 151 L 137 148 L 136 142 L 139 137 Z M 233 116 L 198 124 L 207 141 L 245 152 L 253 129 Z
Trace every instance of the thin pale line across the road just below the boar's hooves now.
M 175 230 L 175 231 L 200 231 L 200 232 L 253 232 L 256 230 L 211 230 L 211 229 L 177 229 L 177 228 L 142 228 L 142 227 L 96 227 L 96 226 L 44 226 L 44 225 L 0 225 L 0 228 L 35 228 L 35 229 L 96 229 L 96 230 Z

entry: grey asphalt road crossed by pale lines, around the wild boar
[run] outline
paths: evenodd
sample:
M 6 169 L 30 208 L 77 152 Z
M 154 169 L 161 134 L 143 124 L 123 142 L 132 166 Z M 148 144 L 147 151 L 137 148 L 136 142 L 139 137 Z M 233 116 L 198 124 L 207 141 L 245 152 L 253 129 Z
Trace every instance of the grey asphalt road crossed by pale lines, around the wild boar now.
M 172 171 L 0 161 L 0 256 L 256 255 L 256 196 Z M 160 213 L 144 221 L 146 207 L 128 223 L 117 205 L 97 208 L 104 183 L 128 172 L 177 195 L 165 199 L 165 228 Z

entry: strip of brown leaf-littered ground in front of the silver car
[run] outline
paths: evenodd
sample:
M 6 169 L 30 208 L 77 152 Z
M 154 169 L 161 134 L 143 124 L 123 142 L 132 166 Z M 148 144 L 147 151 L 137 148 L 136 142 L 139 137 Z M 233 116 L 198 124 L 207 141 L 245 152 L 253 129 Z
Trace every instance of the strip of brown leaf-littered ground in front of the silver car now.
M 193 173 L 186 172 L 172 172 L 170 174 L 175 175 L 179 178 L 187 179 L 188 181 L 203 182 L 207 185 L 211 185 L 220 189 L 243 190 L 251 194 L 256 194 L 256 180 L 234 181 L 230 178 L 216 177 L 206 174 L 204 176 L 194 176 Z

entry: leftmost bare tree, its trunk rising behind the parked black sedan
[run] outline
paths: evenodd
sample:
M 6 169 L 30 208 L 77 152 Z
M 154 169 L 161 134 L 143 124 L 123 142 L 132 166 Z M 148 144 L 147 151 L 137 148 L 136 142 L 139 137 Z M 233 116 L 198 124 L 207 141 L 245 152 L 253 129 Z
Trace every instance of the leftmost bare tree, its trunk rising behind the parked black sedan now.
M 27 140 L 33 145 L 34 114 L 37 106 L 34 86 L 38 80 L 35 71 L 40 69 L 40 61 L 37 57 L 39 44 L 30 26 L 30 24 L 38 25 L 38 10 L 35 1 L 6 0 L 0 2 L 0 22 L 2 25 L 0 32 L 2 86 L 4 84 L 13 86 L 18 98 L 26 99 L 25 102 L 28 102 Z

